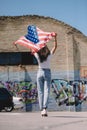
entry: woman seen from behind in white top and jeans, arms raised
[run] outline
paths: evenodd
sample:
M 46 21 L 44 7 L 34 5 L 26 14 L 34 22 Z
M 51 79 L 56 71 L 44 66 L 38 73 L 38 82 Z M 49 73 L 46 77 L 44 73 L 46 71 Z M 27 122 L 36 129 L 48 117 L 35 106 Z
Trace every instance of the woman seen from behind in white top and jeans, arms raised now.
M 39 107 L 42 116 L 47 115 L 48 98 L 50 94 L 50 84 L 51 84 L 51 70 L 50 70 L 50 60 L 51 56 L 54 54 L 57 48 L 57 34 L 54 36 L 54 46 L 50 51 L 47 47 L 43 47 L 37 53 L 34 54 L 38 61 L 39 69 L 37 72 L 37 89 L 38 89 L 38 99 Z

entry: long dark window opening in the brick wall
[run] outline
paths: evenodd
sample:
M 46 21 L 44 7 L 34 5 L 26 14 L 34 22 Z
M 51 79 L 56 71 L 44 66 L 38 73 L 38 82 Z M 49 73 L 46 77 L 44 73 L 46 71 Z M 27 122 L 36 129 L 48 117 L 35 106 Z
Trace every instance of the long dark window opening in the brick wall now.
M 31 52 L 1 52 L 0 65 L 37 65 Z

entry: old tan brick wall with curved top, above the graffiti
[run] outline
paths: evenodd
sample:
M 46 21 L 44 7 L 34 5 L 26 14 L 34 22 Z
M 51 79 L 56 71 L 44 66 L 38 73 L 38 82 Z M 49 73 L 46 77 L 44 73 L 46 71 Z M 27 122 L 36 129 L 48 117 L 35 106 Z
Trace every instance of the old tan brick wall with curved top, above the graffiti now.
M 27 26 L 31 24 L 44 31 L 58 34 L 58 48 L 51 62 L 52 78 L 69 80 L 85 76 L 83 71 L 87 70 L 84 70 L 87 67 L 87 37 L 75 28 L 53 18 L 43 16 L 0 17 L 0 52 L 30 51 L 20 45 L 17 50 L 13 42 L 25 35 Z M 54 39 L 47 43 L 50 49 L 53 42 Z M 0 66 L 0 70 L 0 80 L 23 80 L 25 78 L 35 80 L 37 66 L 25 66 L 26 71 L 19 66 Z

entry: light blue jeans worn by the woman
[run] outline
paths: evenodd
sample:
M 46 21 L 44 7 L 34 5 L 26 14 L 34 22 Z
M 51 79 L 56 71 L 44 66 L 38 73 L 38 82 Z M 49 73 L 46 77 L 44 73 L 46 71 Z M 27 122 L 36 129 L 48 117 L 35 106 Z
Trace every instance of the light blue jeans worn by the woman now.
M 39 69 L 37 73 L 37 89 L 40 110 L 48 107 L 50 94 L 51 71 L 50 69 Z

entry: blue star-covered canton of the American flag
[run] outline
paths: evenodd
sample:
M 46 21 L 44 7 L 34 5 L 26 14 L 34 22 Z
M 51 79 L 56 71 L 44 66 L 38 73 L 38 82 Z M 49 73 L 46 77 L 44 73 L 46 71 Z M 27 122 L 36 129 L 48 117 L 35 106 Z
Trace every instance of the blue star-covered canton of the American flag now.
M 34 44 L 37 44 L 39 42 L 39 39 L 38 39 L 36 26 L 34 25 L 28 26 L 28 34 L 25 35 L 25 37 L 31 42 L 33 42 Z

